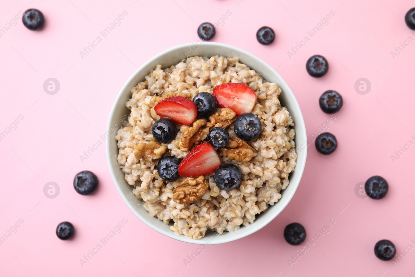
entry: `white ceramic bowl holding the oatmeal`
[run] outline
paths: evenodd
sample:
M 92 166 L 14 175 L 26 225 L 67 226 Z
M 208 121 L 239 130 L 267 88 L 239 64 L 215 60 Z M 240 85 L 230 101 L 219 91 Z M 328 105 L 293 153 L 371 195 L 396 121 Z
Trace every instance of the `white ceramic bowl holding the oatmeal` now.
M 226 243 L 232 240 L 243 238 L 266 226 L 266 224 L 273 220 L 293 198 L 295 190 L 300 183 L 301 175 L 303 175 L 305 159 L 307 156 L 307 147 L 305 147 L 307 138 L 303 115 L 301 114 L 300 106 L 298 105 L 293 92 L 288 87 L 286 82 L 271 66 L 266 64 L 261 59 L 258 59 L 256 56 L 249 54 L 246 51 L 226 44 L 215 42 L 203 42 L 199 44 L 189 43 L 172 47 L 158 54 L 143 64 L 134 74 L 132 74 L 132 76 L 122 87 L 117 99 L 115 100 L 114 106 L 112 107 L 110 113 L 110 118 L 108 119 L 107 130 L 111 130 L 111 128 L 113 128 L 112 130 L 120 128 L 119 120 L 121 120 L 125 115 L 129 115 L 130 110 L 125 107 L 125 103 L 129 98 L 131 98 L 131 89 L 136 86 L 137 83 L 144 81 L 145 75 L 149 74 L 149 72 L 154 69 L 157 64 L 161 64 L 161 68 L 164 69 L 168 66 L 179 63 L 188 55 L 204 57 L 211 57 L 215 55 L 238 57 L 241 63 L 246 64 L 250 69 L 255 70 L 259 76 L 264 78 L 266 81 L 276 83 L 278 87 L 282 89 L 282 93 L 279 99 L 281 101 L 281 105 L 288 108 L 288 111 L 294 120 L 295 144 L 296 152 L 298 153 L 298 159 L 297 166 L 295 167 L 295 172 L 292 172 L 289 175 L 290 184 L 288 185 L 287 189 L 281 192 L 281 199 L 278 200 L 275 205 L 269 206 L 266 211 L 256 215 L 254 223 L 250 224 L 249 226 L 242 226 L 240 229 L 234 232 L 224 232 L 222 235 L 217 235 L 217 233 L 211 232 L 206 234 L 205 237 L 200 240 L 194 240 L 186 237 L 185 235 L 176 235 L 176 233 L 170 230 L 171 225 L 166 225 L 157 217 L 151 216 L 142 206 L 143 201 L 138 200 L 135 195 L 132 194 L 132 186 L 130 186 L 125 180 L 125 175 L 121 171 L 117 162 L 118 147 L 117 140 L 115 140 L 117 132 L 112 132 L 110 137 L 107 139 L 107 160 L 112 178 L 115 182 L 115 186 L 117 186 L 117 189 L 120 192 L 125 203 L 127 203 L 127 206 L 131 209 L 131 211 L 133 211 L 134 214 L 148 226 L 170 238 L 181 240 L 187 243 Z M 299 146 L 301 146 L 301 150 L 299 149 Z

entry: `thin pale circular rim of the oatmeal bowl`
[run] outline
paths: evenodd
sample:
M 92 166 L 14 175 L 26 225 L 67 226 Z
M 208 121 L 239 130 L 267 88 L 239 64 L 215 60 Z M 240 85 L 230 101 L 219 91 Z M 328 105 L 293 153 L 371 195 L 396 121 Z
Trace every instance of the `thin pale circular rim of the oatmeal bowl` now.
M 117 95 L 117 98 L 115 98 L 114 104 L 112 105 L 111 111 L 110 111 L 110 115 L 108 117 L 108 123 L 107 123 L 107 131 L 110 130 L 110 128 L 112 128 L 111 126 L 111 121 L 112 118 L 114 117 L 114 113 L 116 110 L 116 106 L 117 103 L 120 101 L 120 98 L 122 98 L 123 94 L 125 93 L 126 89 L 128 89 L 128 91 L 131 91 L 132 88 L 129 88 L 129 83 L 131 83 L 133 81 L 134 78 L 136 78 L 136 76 L 138 74 L 143 74 L 142 70 L 144 70 L 144 68 L 151 64 L 154 63 L 154 61 L 156 61 L 157 59 L 159 59 L 160 57 L 169 54 L 172 51 L 175 51 L 177 49 L 181 49 L 181 48 L 187 48 L 187 47 L 193 47 L 194 46 L 194 42 L 192 43 L 185 43 L 185 44 L 179 44 L 176 45 L 174 47 L 171 47 L 169 49 L 166 49 L 165 51 L 162 51 L 161 53 L 157 54 L 156 56 L 152 57 L 151 59 L 149 59 L 148 61 L 146 61 L 144 64 L 142 64 L 142 66 L 140 66 L 136 71 L 134 71 L 134 73 L 127 79 L 127 81 L 124 83 L 124 85 L 122 86 L 120 92 Z M 274 70 L 269 64 L 267 64 L 265 61 L 263 61 L 262 59 L 259 59 L 257 56 L 239 49 L 237 47 L 228 45 L 228 44 L 222 44 L 222 43 L 218 43 L 218 42 L 203 42 L 203 45 L 207 45 L 207 46 L 217 46 L 217 47 L 226 47 L 229 49 L 232 49 L 234 51 L 237 52 L 241 52 L 244 55 L 247 55 L 249 57 L 251 57 L 252 59 L 255 59 L 256 61 L 258 61 L 259 63 L 261 63 L 262 65 L 264 65 L 266 67 L 267 70 L 270 70 L 271 72 L 273 71 L 273 74 L 276 74 L 277 78 L 279 78 L 280 83 L 282 83 L 283 85 L 286 86 L 286 88 L 288 88 L 288 91 L 284 91 L 283 93 L 289 93 L 292 96 L 292 102 L 290 101 L 291 105 L 294 105 L 296 110 L 298 111 L 298 117 L 295 119 L 296 122 L 296 128 L 302 128 L 304 131 L 304 134 L 306 135 L 306 130 L 305 130 L 305 122 L 304 122 L 304 118 L 303 118 L 303 114 L 301 112 L 300 109 L 300 105 L 298 104 L 297 99 L 295 98 L 294 93 L 291 91 L 291 88 L 289 88 L 288 84 L 286 83 L 286 81 L 278 74 L 278 72 L 276 70 Z M 147 74 L 146 74 L 147 75 Z M 144 76 L 146 76 L 144 75 Z M 279 87 L 279 86 L 278 86 Z M 118 129 L 117 129 L 118 131 Z M 303 164 L 301 164 L 301 166 L 299 166 L 299 164 L 297 163 L 295 166 L 295 172 L 296 174 L 299 175 L 298 177 L 298 183 L 297 184 L 293 184 L 295 186 L 293 192 L 291 195 L 286 195 L 284 196 L 285 199 L 285 203 L 283 203 L 282 207 L 278 207 L 276 206 L 276 208 L 278 209 L 278 212 L 273 215 L 273 216 L 269 216 L 269 218 L 267 218 L 264 222 L 262 222 L 262 225 L 257 225 L 255 227 L 253 227 L 251 230 L 249 230 L 248 232 L 240 232 L 238 233 L 237 230 L 234 232 L 229 232 L 229 233 L 233 233 L 234 235 L 232 237 L 229 237 L 226 241 L 217 241 L 216 239 L 214 239 L 212 242 L 207 243 L 206 240 L 200 239 L 200 240 L 196 240 L 196 239 L 191 239 L 185 235 L 177 235 L 176 233 L 174 233 L 173 231 L 165 231 L 162 229 L 159 229 L 157 226 L 154 226 L 151 222 L 147 221 L 146 218 L 143 218 L 138 212 L 138 208 L 134 207 L 131 205 L 131 203 L 129 203 L 129 200 L 127 199 L 127 197 L 125 196 L 124 192 L 121 189 L 120 184 L 117 181 L 117 177 L 115 176 L 115 172 L 112 170 L 112 164 L 111 161 L 113 159 L 113 157 L 110 156 L 110 139 L 106 140 L 106 152 L 107 152 L 107 163 L 108 163 L 108 167 L 110 169 L 111 172 L 111 176 L 112 176 L 112 180 L 114 181 L 115 186 L 117 187 L 118 192 L 120 193 L 122 199 L 124 200 L 124 202 L 127 204 L 127 206 L 129 207 L 129 209 L 135 214 L 135 216 L 137 216 L 144 224 L 146 224 L 147 226 L 149 226 L 150 228 L 152 228 L 153 230 L 168 236 L 169 238 L 173 238 L 175 240 L 178 241 L 182 241 L 182 242 L 186 242 L 186 243 L 193 243 L 193 244 L 199 244 L 199 245 L 210 245 L 210 244 L 221 244 L 221 243 L 228 243 L 234 240 L 238 240 L 240 238 L 244 238 L 248 235 L 251 235 L 253 233 L 255 233 L 258 230 L 261 230 L 263 227 L 265 227 L 266 225 L 268 225 L 271 221 L 273 221 L 274 218 L 276 218 L 276 216 L 278 216 L 284 208 L 286 208 L 286 206 L 288 205 L 288 203 L 291 201 L 291 199 L 293 198 L 295 191 L 297 190 L 300 181 L 301 181 L 301 177 L 303 176 L 303 172 L 304 172 L 304 168 L 305 168 L 305 161 L 307 159 L 307 147 L 305 147 L 304 150 L 301 150 L 301 154 L 304 156 L 304 162 Z M 297 141 L 296 141 L 296 145 L 297 145 Z M 298 160 L 297 160 L 298 161 Z M 290 185 L 291 185 L 291 180 L 290 180 Z M 278 202 L 276 202 L 278 203 Z M 275 203 L 275 204 L 276 204 Z M 274 204 L 274 206 L 275 206 Z M 141 206 L 140 206 L 141 207 Z M 254 222 L 255 223 L 255 222 Z M 250 225 L 254 224 L 251 223 Z M 240 229 L 239 229 L 240 230 Z M 220 235 L 219 235 L 220 236 Z

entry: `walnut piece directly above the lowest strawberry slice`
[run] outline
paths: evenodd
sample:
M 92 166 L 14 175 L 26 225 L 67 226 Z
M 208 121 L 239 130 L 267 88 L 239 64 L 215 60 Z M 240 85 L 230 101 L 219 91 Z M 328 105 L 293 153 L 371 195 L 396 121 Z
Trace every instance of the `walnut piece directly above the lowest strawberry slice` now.
M 180 150 L 187 152 L 193 145 L 198 145 L 206 139 L 209 135 L 209 127 L 202 128 L 205 124 L 205 120 L 199 119 L 193 122 L 192 127 L 183 131 L 179 144 Z

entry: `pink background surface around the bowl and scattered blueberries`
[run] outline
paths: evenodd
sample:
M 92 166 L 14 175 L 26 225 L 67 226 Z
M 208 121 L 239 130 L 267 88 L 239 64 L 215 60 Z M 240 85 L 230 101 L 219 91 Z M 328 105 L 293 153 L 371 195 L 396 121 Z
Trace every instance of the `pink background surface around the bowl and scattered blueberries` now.
M 381 239 L 393 241 L 398 253 L 415 246 L 411 241 L 415 240 L 415 147 L 391 159 L 408 140 L 415 142 L 411 137 L 415 137 L 415 42 L 402 47 L 398 56 L 391 55 L 408 37 L 415 38 L 404 23 L 412 1 L 30 1 L 9 1 L 0 9 L 0 28 L 7 28 L 19 11 L 29 7 L 46 17 L 40 32 L 29 31 L 19 19 L 0 37 L 0 132 L 24 116 L 17 129 L 0 141 L 0 235 L 20 218 L 24 221 L 0 245 L 1 276 L 412 274 L 415 251 L 402 255 L 395 265 L 379 260 L 373 251 Z M 339 147 L 330 157 L 319 154 L 314 143 L 308 147 L 303 179 L 283 213 L 246 238 L 207 246 L 186 266 L 183 260 L 200 246 L 161 235 L 129 211 L 110 176 L 105 145 L 83 162 L 79 156 L 97 140 L 103 141 L 100 135 L 106 131 L 113 101 L 138 66 L 169 47 L 198 41 L 198 25 L 217 22 L 228 10 L 232 15 L 212 41 L 242 48 L 278 68 L 300 103 L 308 135 L 330 117 L 318 105 L 321 93 L 334 89 L 347 105 L 328 125 Z M 123 11 L 128 15 L 121 25 L 82 59 L 83 47 Z M 307 32 L 330 11 L 335 15 L 329 24 L 310 38 Z M 276 41 L 269 46 L 255 38 L 264 25 L 276 32 Z M 310 41 L 290 59 L 287 51 L 305 36 Z M 322 78 L 305 71 L 305 61 L 314 54 L 325 56 L 330 64 Z M 51 77 L 61 86 L 55 95 L 43 89 Z M 362 77 L 372 86 L 366 95 L 354 89 Z M 73 176 L 82 170 L 91 170 L 100 179 L 91 196 L 73 189 Z M 378 201 L 356 196 L 356 184 L 378 174 L 389 183 L 387 196 Z M 49 181 L 60 187 L 55 199 L 43 193 Z M 124 218 L 128 223 L 121 233 L 82 266 L 83 255 Z M 311 238 L 331 218 L 335 224 L 330 232 L 290 267 L 288 259 L 304 244 L 288 245 L 285 226 L 299 222 Z M 56 237 L 61 221 L 75 226 L 72 240 Z

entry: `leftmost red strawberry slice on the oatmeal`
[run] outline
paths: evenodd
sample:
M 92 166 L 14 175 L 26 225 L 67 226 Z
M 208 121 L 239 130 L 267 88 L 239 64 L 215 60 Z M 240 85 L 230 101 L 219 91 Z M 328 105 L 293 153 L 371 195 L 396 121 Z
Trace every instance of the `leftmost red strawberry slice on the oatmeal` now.
M 173 96 L 160 101 L 154 111 L 162 118 L 170 118 L 177 124 L 189 125 L 198 116 L 198 107 L 190 99 Z

